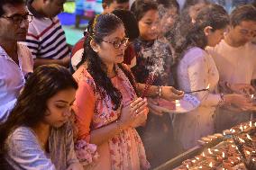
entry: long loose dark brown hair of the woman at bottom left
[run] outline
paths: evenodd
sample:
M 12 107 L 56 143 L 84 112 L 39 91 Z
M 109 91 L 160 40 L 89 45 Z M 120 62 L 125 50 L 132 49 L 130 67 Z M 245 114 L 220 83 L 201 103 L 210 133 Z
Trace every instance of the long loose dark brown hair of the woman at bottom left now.
M 5 139 L 19 126 L 34 127 L 42 121 L 47 110 L 47 101 L 61 90 L 78 84 L 69 70 L 59 65 L 37 67 L 28 78 L 7 121 L 0 125 L 0 153 L 5 154 Z

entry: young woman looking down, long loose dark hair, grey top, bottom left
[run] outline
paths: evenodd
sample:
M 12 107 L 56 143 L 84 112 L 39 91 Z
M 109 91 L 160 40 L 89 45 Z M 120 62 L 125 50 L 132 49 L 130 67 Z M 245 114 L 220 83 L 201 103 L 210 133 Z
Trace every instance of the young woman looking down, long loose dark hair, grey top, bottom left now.
M 77 88 L 65 67 L 48 65 L 34 71 L 0 126 L 0 152 L 9 166 L 15 170 L 82 169 L 69 123 Z

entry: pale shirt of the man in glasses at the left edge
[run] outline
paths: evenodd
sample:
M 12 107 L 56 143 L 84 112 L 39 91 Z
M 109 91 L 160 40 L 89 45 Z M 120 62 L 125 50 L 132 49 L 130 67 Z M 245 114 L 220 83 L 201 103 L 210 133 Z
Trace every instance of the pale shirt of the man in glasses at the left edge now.
M 19 66 L 0 46 L 0 122 L 6 120 L 13 109 L 16 98 L 22 89 L 24 76 L 33 70 L 30 50 L 18 43 Z

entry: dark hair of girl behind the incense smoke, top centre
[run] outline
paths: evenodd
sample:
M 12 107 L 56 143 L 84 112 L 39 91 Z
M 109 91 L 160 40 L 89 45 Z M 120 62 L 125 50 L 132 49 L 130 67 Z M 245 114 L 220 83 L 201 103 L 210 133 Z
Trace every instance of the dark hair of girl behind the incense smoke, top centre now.
M 151 0 L 136 0 L 131 7 L 131 11 L 134 13 L 138 22 L 150 10 L 158 10 L 158 4 Z

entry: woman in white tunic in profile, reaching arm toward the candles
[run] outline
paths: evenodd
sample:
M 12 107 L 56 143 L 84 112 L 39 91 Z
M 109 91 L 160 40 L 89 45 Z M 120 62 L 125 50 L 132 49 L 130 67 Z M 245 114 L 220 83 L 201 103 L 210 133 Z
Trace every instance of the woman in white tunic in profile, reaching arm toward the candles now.
M 245 108 L 249 101 L 239 94 L 215 94 L 219 74 L 214 59 L 206 52 L 206 46 L 214 47 L 224 38 L 229 24 L 228 14 L 218 4 L 208 4 L 202 9 L 195 23 L 182 18 L 175 32 L 178 62 L 178 87 L 194 91 L 209 87 L 209 91 L 194 93 L 201 101 L 197 110 L 176 115 L 175 138 L 182 148 L 195 147 L 197 140 L 215 132 L 215 109 L 218 105 L 234 104 Z M 191 21 L 191 20 L 190 20 Z

